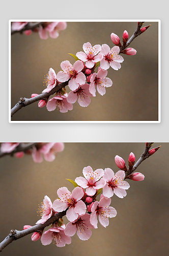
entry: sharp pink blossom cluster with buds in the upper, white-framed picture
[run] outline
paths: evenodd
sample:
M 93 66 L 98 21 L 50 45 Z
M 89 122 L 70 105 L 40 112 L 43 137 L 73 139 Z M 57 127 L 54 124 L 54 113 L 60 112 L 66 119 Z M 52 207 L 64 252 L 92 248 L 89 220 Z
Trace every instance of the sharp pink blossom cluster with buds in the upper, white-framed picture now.
M 124 31 L 123 44 L 127 42 L 127 31 Z M 106 93 L 106 87 L 112 86 L 112 80 L 107 77 L 107 70 L 111 67 L 114 70 L 121 68 L 121 63 L 124 61 L 123 57 L 119 55 L 121 42 L 117 35 L 111 34 L 111 40 L 116 46 L 110 47 L 106 44 L 92 46 L 90 42 L 83 44 L 83 52 L 77 52 L 76 55 L 70 54 L 76 60 L 72 65 L 69 60 L 62 61 L 62 70 L 55 73 L 50 68 L 48 74 L 45 77 L 45 83 L 47 88 L 42 91 L 50 92 L 55 86 L 62 82 L 68 81 L 68 87 L 71 92 L 69 94 L 66 89 L 59 90 L 55 96 L 51 99 L 46 97 L 39 101 L 38 106 L 43 108 L 46 105 L 48 111 L 55 109 L 61 113 L 66 113 L 68 110 L 73 109 L 73 103 L 78 101 L 79 105 L 86 107 L 91 103 L 91 97 L 96 97 L 96 90 L 100 95 Z M 125 42 L 124 42 L 125 40 Z M 132 48 L 128 48 L 123 53 L 127 55 L 134 55 L 136 51 Z M 99 67 L 98 67 L 99 66 Z M 98 67 L 98 72 L 95 72 L 95 68 Z M 32 94 L 32 97 L 38 94 Z

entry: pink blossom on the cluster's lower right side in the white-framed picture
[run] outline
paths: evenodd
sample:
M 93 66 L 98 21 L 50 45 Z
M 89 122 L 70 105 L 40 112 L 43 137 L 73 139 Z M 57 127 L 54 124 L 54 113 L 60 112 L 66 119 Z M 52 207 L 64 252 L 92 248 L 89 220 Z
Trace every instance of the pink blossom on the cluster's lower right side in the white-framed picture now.
M 107 75 L 107 70 L 101 69 L 100 67 L 98 68 L 98 73 L 94 73 L 91 76 L 91 84 L 89 91 L 91 94 L 95 97 L 96 96 L 96 87 L 97 91 L 100 95 L 104 95 L 106 93 L 105 87 L 110 87 L 112 86 L 112 81 L 110 78 L 106 77 Z

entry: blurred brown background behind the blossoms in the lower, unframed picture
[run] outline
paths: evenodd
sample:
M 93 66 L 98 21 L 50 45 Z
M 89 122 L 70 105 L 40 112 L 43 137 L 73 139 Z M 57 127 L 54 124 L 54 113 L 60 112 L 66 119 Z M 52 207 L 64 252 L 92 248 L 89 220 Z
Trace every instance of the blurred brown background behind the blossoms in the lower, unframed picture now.
M 154 143 L 154 147 L 159 145 Z M 51 163 L 34 163 L 31 156 L 1 158 L 0 240 L 11 229 L 34 225 L 39 220 L 36 211 L 44 196 L 53 202 L 59 187 L 67 186 L 72 191 L 73 185 L 66 178 L 74 180 L 82 176 L 83 167 L 110 167 L 117 172 L 116 155 L 127 163 L 130 152 L 137 160 L 144 149 L 145 143 L 65 143 L 65 150 Z M 53 244 L 43 246 L 40 240 L 32 242 L 30 234 L 8 245 L 3 255 L 157 256 L 159 252 L 168 255 L 168 154 L 169 144 L 161 143 L 161 148 L 137 168 L 136 172 L 143 173 L 145 180 L 127 180 L 130 183 L 127 196 L 111 198 L 117 216 L 109 219 L 106 228 L 98 224 L 88 241 L 79 240 L 75 234 L 70 245 L 58 248 Z M 64 221 L 67 223 L 65 217 Z

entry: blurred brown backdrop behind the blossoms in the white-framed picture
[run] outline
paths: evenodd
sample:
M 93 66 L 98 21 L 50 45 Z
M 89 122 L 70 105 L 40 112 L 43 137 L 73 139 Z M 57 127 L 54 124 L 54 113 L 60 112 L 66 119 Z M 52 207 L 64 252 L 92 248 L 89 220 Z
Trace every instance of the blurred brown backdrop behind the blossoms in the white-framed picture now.
M 149 24 L 146 22 L 144 26 Z M 58 73 L 62 61 L 69 60 L 73 64 L 74 58 L 68 53 L 83 51 L 85 42 L 107 44 L 112 48 L 115 46 L 110 39 L 112 32 L 122 41 L 124 30 L 130 37 L 136 27 L 136 22 L 68 22 L 67 29 L 57 39 L 49 37 L 42 40 L 38 33 L 12 35 L 12 107 L 20 97 L 30 98 L 32 93 L 40 94 L 46 88 L 43 87 L 43 79 L 49 68 Z M 91 98 L 87 108 L 76 102 L 68 113 L 57 110 L 48 112 L 46 107 L 38 108 L 38 102 L 35 102 L 19 110 L 12 120 L 158 120 L 158 23 L 151 22 L 151 27 L 135 38 L 129 47 L 136 49 L 136 55 L 122 54 L 122 68 L 118 71 L 108 69 L 107 77 L 112 80 L 112 87 L 106 89 L 104 96 L 97 93 Z

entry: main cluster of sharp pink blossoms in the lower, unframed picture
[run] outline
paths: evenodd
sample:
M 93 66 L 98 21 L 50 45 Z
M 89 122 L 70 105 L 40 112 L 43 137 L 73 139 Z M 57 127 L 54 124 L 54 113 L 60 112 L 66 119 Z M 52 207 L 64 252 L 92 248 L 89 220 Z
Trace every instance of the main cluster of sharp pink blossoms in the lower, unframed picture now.
M 110 168 L 93 170 L 91 166 L 87 166 L 83 168 L 82 173 L 84 177 L 77 177 L 75 181 L 68 179 L 75 186 L 72 193 L 67 187 L 59 188 L 59 199 L 52 203 L 50 198 L 45 196 L 37 211 L 41 219 L 36 224 L 44 224 L 51 216 L 65 210 L 68 224 L 65 225 L 63 219 L 59 219 L 47 231 L 43 232 L 43 228 L 34 232 L 32 241 L 41 239 L 43 245 L 48 245 L 53 240 L 55 245 L 63 247 L 71 243 L 71 237 L 75 233 L 80 240 L 88 240 L 92 236 L 91 229 L 98 228 L 98 221 L 103 227 L 107 227 L 109 218 L 116 217 L 116 209 L 110 206 L 111 197 L 115 194 L 119 198 L 124 198 L 127 195 L 126 190 L 130 187 L 129 183 L 124 181 L 124 170 L 119 170 L 115 174 Z M 140 175 L 142 174 L 136 173 L 135 177 Z M 97 196 L 101 191 L 98 201 Z

